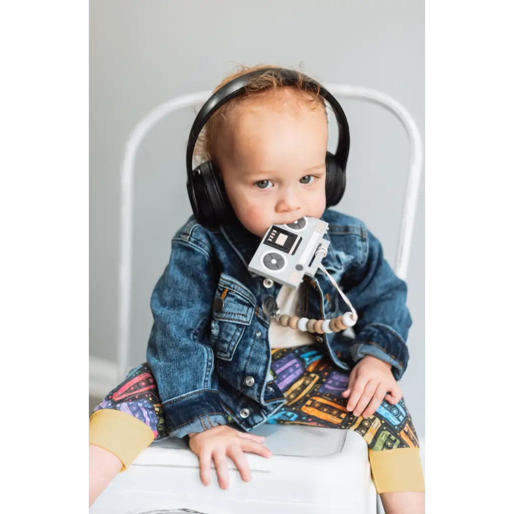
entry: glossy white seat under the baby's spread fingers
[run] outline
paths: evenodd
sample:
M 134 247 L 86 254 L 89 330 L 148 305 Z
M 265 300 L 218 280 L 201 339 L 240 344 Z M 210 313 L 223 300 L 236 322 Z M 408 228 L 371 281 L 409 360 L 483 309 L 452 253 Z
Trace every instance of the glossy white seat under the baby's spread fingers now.
M 189 512 L 202 514 L 376 514 L 368 446 L 346 430 L 262 425 L 269 459 L 246 454 L 252 481 L 242 481 L 228 460 L 230 487 L 222 490 L 215 470 L 201 484 L 198 459 L 181 439 L 167 438 L 144 450 L 120 473 L 90 514 Z M 159 510 L 160 509 L 160 510 Z M 183 510 L 180 510 L 183 509 Z

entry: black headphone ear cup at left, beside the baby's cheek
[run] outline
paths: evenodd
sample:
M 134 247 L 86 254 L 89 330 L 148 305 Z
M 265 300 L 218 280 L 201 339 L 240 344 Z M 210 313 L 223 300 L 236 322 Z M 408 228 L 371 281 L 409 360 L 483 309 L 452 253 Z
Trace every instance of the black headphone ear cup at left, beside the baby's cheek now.
M 230 204 L 221 174 L 213 162 L 203 162 L 193 170 L 188 193 L 198 223 L 216 226 L 227 219 Z

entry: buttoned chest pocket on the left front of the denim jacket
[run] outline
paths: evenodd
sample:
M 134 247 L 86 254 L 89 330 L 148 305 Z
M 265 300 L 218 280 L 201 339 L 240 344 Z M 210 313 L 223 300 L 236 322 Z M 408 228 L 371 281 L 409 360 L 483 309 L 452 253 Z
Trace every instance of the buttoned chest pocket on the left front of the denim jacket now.
M 211 344 L 216 357 L 232 360 L 245 328 L 250 325 L 256 300 L 241 282 L 222 273 L 214 297 Z

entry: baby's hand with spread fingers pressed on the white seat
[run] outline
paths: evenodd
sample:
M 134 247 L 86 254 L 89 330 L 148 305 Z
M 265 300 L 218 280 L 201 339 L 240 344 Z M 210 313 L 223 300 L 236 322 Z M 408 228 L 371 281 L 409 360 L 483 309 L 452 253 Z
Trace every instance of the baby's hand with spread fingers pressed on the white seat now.
M 245 482 L 250 482 L 252 474 L 245 454 L 256 453 L 271 457 L 271 452 L 263 446 L 264 437 L 240 432 L 226 425 L 189 434 L 189 447 L 200 461 L 200 479 L 208 486 L 211 483 L 211 460 L 214 460 L 219 487 L 228 489 L 229 474 L 227 456 L 234 462 Z

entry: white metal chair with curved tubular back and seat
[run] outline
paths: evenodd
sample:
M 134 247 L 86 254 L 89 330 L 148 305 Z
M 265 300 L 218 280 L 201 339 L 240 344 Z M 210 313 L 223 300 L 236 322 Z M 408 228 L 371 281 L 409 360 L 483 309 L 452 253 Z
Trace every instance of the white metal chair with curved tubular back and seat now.
M 325 87 L 334 96 L 368 101 L 388 109 L 407 132 L 410 167 L 394 266 L 398 277 L 405 279 L 422 168 L 421 137 L 416 123 L 405 107 L 380 91 L 344 84 L 325 84 Z M 180 108 L 204 102 L 210 95 L 210 91 L 201 91 L 159 105 L 135 126 L 125 145 L 120 202 L 119 381 L 128 371 L 136 154 L 143 138 L 162 118 Z M 152 510 L 156 513 L 190 509 L 190 512 L 206 514 L 242 511 L 253 514 L 279 509 L 282 514 L 289 511 L 295 514 L 339 512 L 337 501 L 341 497 L 345 498 L 348 512 L 374 514 L 377 508 L 381 509 L 371 481 L 368 448 L 360 435 L 341 430 L 269 425 L 263 426 L 259 433 L 267 435 L 266 444 L 274 456 L 265 460 L 248 455 L 253 471 L 250 484 L 237 480 L 236 469 L 231 465 L 231 487 L 228 491 L 217 487 L 214 475 L 211 487 L 205 488 L 199 482 L 196 457 L 180 440 L 165 439 L 151 445 L 129 470 L 118 475 L 90 512 L 136 514 L 149 512 L 149 509 L 157 509 Z M 334 477 L 337 480 L 333 480 Z M 334 490 L 337 491 L 335 495 Z

